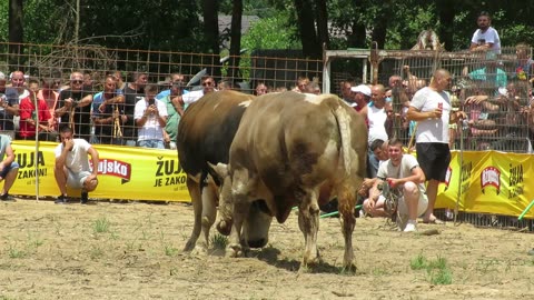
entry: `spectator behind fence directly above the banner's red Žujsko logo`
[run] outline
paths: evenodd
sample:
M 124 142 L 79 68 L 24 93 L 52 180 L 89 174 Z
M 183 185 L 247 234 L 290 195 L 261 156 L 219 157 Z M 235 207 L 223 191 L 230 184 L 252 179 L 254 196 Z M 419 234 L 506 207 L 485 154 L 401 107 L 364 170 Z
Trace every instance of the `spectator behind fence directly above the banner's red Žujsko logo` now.
M 103 144 L 122 143 L 122 123 L 126 116 L 120 103 L 125 102 L 122 91 L 117 89 L 117 80 L 106 77 L 103 91 L 98 92 L 92 101 L 92 122 L 95 123 L 95 142 Z

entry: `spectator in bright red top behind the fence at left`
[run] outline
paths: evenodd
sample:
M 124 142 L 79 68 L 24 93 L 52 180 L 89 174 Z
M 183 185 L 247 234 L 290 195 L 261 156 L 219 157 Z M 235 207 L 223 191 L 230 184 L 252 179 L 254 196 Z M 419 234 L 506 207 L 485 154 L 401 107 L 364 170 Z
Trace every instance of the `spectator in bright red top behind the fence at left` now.
M 39 81 L 30 80 L 28 83 L 30 94 L 20 101 L 20 131 L 22 140 L 34 140 L 39 132 L 39 140 L 56 141 L 57 132 L 50 126 L 50 114 L 47 102 L 38 97 Z M 36 108 L 37 102 L 37 108 Z

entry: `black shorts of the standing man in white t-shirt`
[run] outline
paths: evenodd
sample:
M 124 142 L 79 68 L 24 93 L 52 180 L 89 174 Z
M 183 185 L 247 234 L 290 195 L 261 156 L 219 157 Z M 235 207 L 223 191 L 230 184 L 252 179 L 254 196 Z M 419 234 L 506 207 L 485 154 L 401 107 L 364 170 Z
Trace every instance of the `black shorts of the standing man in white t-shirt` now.
M 451 162 L 448 143 L 418 142 L 415 144 L 415 150 L 417 151 L 417 162 L 425 173 L 426 180 L 445 181 Z

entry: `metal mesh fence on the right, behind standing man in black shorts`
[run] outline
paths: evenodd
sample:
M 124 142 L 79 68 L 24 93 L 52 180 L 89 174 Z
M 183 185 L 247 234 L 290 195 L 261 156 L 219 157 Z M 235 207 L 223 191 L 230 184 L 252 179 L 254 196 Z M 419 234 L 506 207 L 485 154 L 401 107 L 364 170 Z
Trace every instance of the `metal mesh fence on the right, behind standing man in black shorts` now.
M 428 86 L 432 73 L 437 68 L 448 70 L 453 76 L 451 96 L 453 109 L 462 109 L 468 119 L 462 124 L 452 124 L 451 148 L 459 149 L 461 137 L 464 137 L 464 150 L 498 150 L 525 153 L 532 151 L 532 113 L 531 113 L 531 48 L 503 48 L 498 56 L 476 52 L 443 51 L 386 51 L 376 52 L 378 69 L 367 77 L 359 70 L 348 74 L 345 70 L 330 69 L 332 91 L 340 93 L 340 77 L 363 78 L 364 82 L 373 80 L 389 87 L 389 78 L 399 76 L 402 88 L 411 98 L 418 89 Z M 336 59 L 336 51 L 330 58 Z M 373 50 L 360 50 L 350 53 L 344 51 L 339 57 L 353 57 L 362 60 L 367 57 L 368 67 L 373 69 Z M 365 61 L 365 59 L 364 59 Z M 400 96 L 392 88 L 393 107 L 397 113 L 393 134 L 407 144 L 414 130 L 414 123 L 405 119 Z M 397 91 L 397 92 L 396 92 Z

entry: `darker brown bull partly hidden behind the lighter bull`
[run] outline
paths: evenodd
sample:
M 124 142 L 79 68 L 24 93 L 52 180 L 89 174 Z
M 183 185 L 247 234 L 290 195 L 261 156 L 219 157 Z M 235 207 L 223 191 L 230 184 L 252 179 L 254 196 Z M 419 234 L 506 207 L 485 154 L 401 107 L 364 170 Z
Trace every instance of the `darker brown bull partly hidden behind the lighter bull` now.
M 214 177 L 209 176 L 207 162 L 228 162 L 230 143 L 248 103 L 254 96 L 236 91 L 219 91 L 208 93 L 190 104 L 178 127 L 178 159 L 187 173 L 187 188 L 195 211 L 195 222 L 191 237 L 185 251 L 195 248 L 200 232 L 204 231 L 207 250 L 209 229 L 215 222 L 217 211 L 218 188 Z M 215 178 L 216 179 L 216 178 Z M 257 218 L 259 211 L 250 213 Z M 259 217 L 260 219 L 261 217 Z M 250 247 L 263 247 L 267 240 L 255 240 Z

